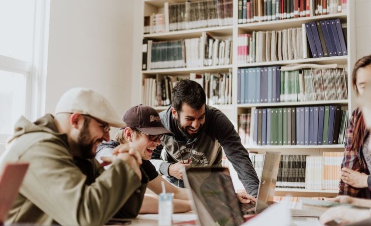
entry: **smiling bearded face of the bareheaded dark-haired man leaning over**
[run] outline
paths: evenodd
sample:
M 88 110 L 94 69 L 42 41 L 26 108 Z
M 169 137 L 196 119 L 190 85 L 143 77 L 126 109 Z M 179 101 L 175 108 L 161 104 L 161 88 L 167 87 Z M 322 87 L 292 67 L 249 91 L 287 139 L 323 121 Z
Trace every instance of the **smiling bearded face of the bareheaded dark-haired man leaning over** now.
M 193 109 L 189 104 L 182 103 L 181 110 L 177 112 L 171 107 L 173 118 L 179 130 L 188 138 L 196 138 L 202 126 L 205 124 L 205 104 L 198 110 Z

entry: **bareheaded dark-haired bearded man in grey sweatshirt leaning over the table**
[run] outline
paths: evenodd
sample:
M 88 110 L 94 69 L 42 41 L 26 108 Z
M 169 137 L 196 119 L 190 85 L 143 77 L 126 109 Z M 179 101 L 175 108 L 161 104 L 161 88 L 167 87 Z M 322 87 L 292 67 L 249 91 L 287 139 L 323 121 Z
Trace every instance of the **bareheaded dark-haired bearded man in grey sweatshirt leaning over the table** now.
M 157 172 L 174 185 L 184 187 L 181 168 L 221 166 L 223 148 L 250 194 L 245 197 L 255 200 L 259 179 L 249 153 L 223 112 L 206 104 L 203 87 L 183 79 L 174 86 L 171 101 L 172 105 L 159 115 L 164 127 L 174 136 L 165 136 L 153 150 L 151 162 Z

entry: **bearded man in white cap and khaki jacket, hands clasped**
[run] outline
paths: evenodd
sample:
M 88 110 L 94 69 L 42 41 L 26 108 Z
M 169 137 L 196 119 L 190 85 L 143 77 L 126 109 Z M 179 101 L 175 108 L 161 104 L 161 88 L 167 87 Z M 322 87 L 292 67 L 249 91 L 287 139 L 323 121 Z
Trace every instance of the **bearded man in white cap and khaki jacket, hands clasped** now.
M 55 116 L 31 123 L 21 117 L 0 167 L 30 163 L 7 224 L 102 225 L 115 214 L 135 216 L 148 178 L 139 153 L 120 147 L 105 161 L 94 159 L 97 145 L 109 140 L 110 126 L 125 127 L 108 100 L 88 88 L 68 90 Z

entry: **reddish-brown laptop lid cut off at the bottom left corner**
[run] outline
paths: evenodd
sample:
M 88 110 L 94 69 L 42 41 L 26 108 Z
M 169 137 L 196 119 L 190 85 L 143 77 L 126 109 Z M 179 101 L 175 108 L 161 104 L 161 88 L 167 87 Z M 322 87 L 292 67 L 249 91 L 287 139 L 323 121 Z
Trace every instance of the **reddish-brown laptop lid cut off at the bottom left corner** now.
M 7 163 L 0 177 L 0 225 L 3 225 L 18 195 L 23 178 L 26 175 L 28 163 Z

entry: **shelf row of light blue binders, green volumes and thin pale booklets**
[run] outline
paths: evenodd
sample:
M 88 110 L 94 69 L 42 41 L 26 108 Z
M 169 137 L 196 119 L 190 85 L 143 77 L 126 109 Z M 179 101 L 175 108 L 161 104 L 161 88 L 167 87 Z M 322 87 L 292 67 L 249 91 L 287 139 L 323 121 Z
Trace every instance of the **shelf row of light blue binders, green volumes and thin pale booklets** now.
M 281 71 L 279 66 L 239 68 L 237 103 L 347 99 L 344 68 Z

